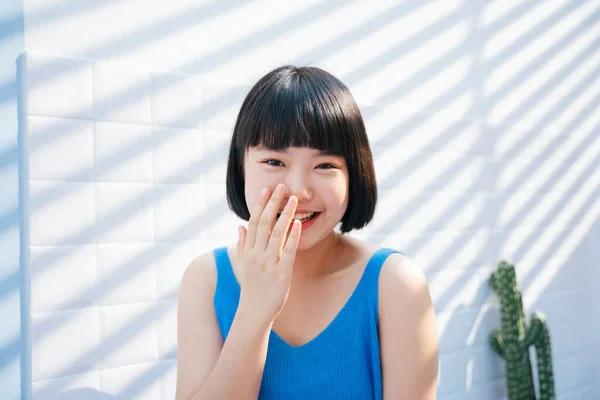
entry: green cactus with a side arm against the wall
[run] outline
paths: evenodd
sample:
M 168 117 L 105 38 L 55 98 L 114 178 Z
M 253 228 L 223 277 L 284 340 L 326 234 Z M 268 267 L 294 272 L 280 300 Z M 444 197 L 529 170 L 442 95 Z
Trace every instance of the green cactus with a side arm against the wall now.
M 514 265 L 500 262 L 490 277 L 490 286 L 500 299 L 500 330 L 490 334 L 492 349 L 505 360 L 509 400 L 535 400 L 529 347 L 535 346 L 540 400 L 555 400 L 550 333 L 544 314 L 534 312 L 529 326 L 517 285 Z

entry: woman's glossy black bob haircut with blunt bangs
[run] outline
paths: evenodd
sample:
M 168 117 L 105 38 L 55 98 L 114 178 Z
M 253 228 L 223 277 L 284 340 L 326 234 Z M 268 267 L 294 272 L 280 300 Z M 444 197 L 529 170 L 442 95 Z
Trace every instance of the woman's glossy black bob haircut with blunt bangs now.
M 348 207 L 341 232 L 366 226 L 375 213 L 377 183 L 360 110 L 350 90 L 316 67 L 285 65 L 262 77 L 237 116 L 227 162 L 227 202 L 240 218 L 250 212 L 244 195 L 249 147 L 307 147 L 343 156 L 349 173 Z

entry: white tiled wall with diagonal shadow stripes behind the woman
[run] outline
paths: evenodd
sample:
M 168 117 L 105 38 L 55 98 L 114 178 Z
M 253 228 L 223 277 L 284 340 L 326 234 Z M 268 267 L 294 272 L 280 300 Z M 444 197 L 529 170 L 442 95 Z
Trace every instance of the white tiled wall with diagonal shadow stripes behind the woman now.
M 283 63 L 356 95 L 380 202 L 355 235 L 423 265 L 439 398 L 506 396 L 487 344 L 503 258 L 548 315 L 559 398 L 600 397 L 597 2 L 25 6 L 34 399 L 174 397 L 179 279 L 235 239 L 231 128 Z

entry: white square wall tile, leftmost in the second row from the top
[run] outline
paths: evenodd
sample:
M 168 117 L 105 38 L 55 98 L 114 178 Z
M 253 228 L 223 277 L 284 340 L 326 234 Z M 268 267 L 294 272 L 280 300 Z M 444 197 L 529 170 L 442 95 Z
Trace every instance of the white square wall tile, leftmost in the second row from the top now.
M 28 117 L 29 178 L 91 180 L 94 131 L 90 121 Z

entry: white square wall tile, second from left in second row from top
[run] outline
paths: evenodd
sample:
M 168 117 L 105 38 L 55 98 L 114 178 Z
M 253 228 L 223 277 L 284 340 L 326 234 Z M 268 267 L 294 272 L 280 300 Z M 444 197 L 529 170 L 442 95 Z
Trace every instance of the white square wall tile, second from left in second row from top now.
M 112 182 L 152 182 L 153 147 L 154 138 L 150 125 L 96 122 L 96 179 Z

